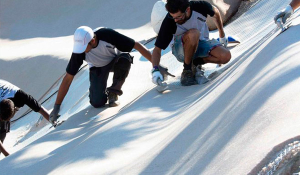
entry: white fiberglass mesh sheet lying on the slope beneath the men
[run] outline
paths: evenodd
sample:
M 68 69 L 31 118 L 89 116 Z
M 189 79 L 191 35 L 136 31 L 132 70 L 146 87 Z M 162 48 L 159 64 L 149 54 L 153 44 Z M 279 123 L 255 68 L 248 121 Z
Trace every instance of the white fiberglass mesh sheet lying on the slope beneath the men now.
M 207 63 L 205 67 L 205 76 L 212 78 L 212 75 L 221 73 L 229 66 L 233 65 L 240 57 L 242 57 L 248 50 L 254 48 L 259 43 L 263 42 L 265 38 L 272 35 L 278 30 L 277 26 L 273 22 L 273 16 L 278 9 L 284 8 L 290 0 L 260 0 L 247 12 L 242 14 L 235 21 L 224 27 L 224 31 L 227 35 L 237 36 L 240 40 L 240 44 L 230 48 L 231 60 L 222 65 Z M 217 36 L 217 31 L 211 31 L 210 36 Z M 146 43 L 145 46 L 152 51 L 154 48 L 154 40 Z M 122 104 L 129 104 L 138 96 L 142 95 L 146 91 L 154 87 L 150 80 L 150 70 L 152 68 L 151 63 L 141 56 L 137 51 L 132 51 L 130 54 L 134 56 L 133 64 L 126 82 L 124 83 L 122 90 L 123 95 L 119 97 Z M 182 71 L 182 63 L 178 62 L 171 53 L 171 48 L 167 47 L 162 50 L 161 64 L 168 67 L 169 71 L 174 74 L 180 74 Z M 215 73 L 217 72 L 217 73 Z M 50 109 L 53 107 L 56 98 L 56 91 L 58 90 L 61 80 L 58 80 L 56 84 L 48 91 L 46 95 L 40 100 L 44 101 L 42 104 L 45 108 Z M 109 74 L 107 86 L 112 83 L 112 74 Z M 180 85 L 180 77 L 169 78 L 167 83 L 173 85 Z M 83 67 L 74 77 L 72 85 L 69 88 L 67 95 L 63 101 L 60 114 L 61 119 L 67 119 L 74 113 L 78 112 L 82 108 L 88 107 L 88 88 L 89 88 L 89 73 L 88 67 Z M 49 97 L 50 95 L 53 96 Z M 48 98 L 49 97 L 49 98 Z M 47 99 L 48 98 L 48 99 Z M 126 106 L 125 106 L 126 107 Z M 15 149 L 20 149 L 34 140 L 45 135 L 52 129 L 49 129 L 50 124 L 36 126 L 36 121 L 39 118 L 39 114 L 35 112 L 28 113 L 25 117 L 17 120 L 11 125 L 11 130 L 17 130 L 22 123 L 29 123 L 27 125 L 26 133 L 21 137 L 15 138 Z M 32 131 L 31 131 L 32 130 Z

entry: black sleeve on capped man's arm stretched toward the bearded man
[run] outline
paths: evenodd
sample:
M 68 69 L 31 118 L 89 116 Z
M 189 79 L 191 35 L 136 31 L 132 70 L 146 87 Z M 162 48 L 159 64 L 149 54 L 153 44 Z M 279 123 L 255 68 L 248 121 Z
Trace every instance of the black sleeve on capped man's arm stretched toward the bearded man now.
M 111 28 L 100 28 L 95 31 L 98 40 L 103 40 L 114 45 L 118 50 L 129 52 L 134 47 L 135 41 Z

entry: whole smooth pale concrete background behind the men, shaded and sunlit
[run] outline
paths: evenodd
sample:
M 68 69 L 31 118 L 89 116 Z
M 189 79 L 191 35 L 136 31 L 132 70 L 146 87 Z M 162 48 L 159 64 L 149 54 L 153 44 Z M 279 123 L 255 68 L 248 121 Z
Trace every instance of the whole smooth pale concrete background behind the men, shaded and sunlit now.
M 149 23 L 155 2 L 1 0 L 0 78 L 39 99 L 65 72 L 78 26 L 106 26 L 136 40 L 147 39 L 155 35 Z

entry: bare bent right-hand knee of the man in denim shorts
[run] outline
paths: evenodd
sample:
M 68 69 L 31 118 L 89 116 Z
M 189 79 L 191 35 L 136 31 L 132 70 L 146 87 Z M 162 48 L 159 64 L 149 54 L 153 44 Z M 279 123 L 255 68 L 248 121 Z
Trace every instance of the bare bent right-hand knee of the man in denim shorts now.
M 211 63 L 217 63 L 217 64 L 225 64 L 227 63 L 231 58 L 230 51 L 223 47 L 218 46 L 210 51 L 210 56 L 204 57 L 204 62 L 211 62 Z

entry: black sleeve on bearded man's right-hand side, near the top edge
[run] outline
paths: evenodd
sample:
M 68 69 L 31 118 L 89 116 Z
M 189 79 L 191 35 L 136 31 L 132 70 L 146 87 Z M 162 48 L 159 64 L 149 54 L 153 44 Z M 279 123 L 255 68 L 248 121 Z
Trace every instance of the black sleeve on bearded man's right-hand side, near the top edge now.
M 191 0 L 189 1 L 189 5 L 191 10 L 197 11 L 198 13 L 201 13 L 203 16 L 207 17 L 207 14 L 209 16 L 214 15 L 214 11 L 212 9 L 212 5 L 209 2 L 206 2 L 204 0 Z

